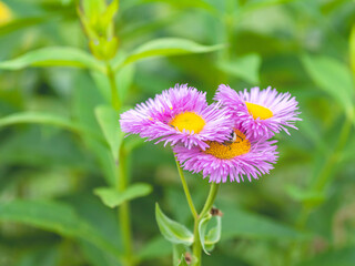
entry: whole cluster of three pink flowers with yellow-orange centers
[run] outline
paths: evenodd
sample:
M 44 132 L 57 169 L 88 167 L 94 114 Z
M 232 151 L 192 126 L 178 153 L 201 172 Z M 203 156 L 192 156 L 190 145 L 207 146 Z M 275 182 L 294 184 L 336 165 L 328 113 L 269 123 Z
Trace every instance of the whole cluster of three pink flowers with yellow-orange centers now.
M 275 133 L 295 127 L 300 114 L 290 93 L 267 88 L 236 92 L 220 85 L 215 103 L 195 88 L 175 85 L 121 114 L 121 129 L 149 141 L 170 143 L 184 170 L 210 182 L 252 181 L 277 160 Z

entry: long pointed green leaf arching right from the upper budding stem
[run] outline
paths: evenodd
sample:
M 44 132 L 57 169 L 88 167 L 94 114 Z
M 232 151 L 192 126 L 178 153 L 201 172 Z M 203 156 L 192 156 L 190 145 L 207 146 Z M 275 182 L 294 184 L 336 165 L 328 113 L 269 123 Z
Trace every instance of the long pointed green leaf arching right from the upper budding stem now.
M 168 57 L 187 53 L 206 53 L 224 48 L 223 44 L 202 45 L 194 41 L 179 38 L 162 38 L 144 43 L 124 59 L 113 62 L 113 68 L 119 69 L 125 64 L 154 57 Z

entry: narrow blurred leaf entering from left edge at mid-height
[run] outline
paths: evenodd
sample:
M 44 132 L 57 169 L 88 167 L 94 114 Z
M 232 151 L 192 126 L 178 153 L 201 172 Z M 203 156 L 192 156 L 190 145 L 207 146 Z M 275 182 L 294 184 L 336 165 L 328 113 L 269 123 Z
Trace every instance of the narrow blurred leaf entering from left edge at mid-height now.
M 87 129 L 84 126 L 78 125 L 73 123 L 69 119 L 64 116 L 60 116 L 58 114 L 51 113 L 40 113 L 40 112 L 23 112 L 23 113 L 14 113 L 8 116 L 0 119 L 0 127 L 8 126 L 13 124 L 23 124 L 23 123 L 38 123 L 38 124 L 51 124 L 60 127 L 64 127 L 70 131 L 74 131 L 78 133 L 89 134 L 90 136 L 102 140 L 100 135 Z

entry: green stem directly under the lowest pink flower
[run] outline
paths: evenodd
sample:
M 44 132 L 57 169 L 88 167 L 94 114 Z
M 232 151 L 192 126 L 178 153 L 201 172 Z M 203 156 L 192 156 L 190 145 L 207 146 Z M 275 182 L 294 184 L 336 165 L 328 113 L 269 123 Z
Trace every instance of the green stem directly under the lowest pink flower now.
M 212 208 L 212 205 L 214 203 L 214 200 L 217 195 L 220 184 L 217 183 L 212 183 L 210 187 L 210 193 L 207 196 L 206 202 L 204 203 L 204 206 L 201 211 L 201 213 L 195 217 L 194 222 L 194 243 L 192 245 L 192 253 L 194 258 L 196 259 L 193 264 L 193 266 L 201 266 L 201 255 L 202 255 L 202 246 L 201 246 L 201 241 L 200 241 L 200 232 L 199 232 L 199 225 L 201 219 L 210 212 Z

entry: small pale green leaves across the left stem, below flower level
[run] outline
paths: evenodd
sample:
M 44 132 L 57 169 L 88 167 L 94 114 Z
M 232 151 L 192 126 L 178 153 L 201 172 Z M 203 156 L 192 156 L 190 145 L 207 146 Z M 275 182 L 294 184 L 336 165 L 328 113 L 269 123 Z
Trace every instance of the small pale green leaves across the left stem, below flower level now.
M 152 186 L 144 183 L 133 184 L 123 192 L 118 192 L 113 187 L 99 187 L 94 190 L 94 194 L 101 198 L 104 205 L 112 208 L 121 205 L 123 202 L 146 196 L 151 192 Z

